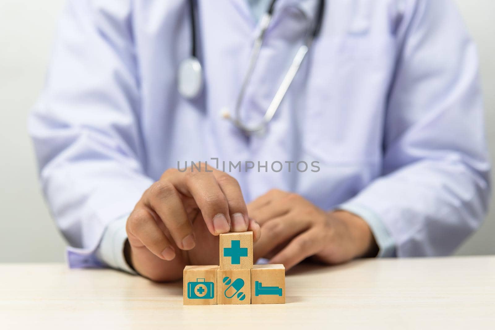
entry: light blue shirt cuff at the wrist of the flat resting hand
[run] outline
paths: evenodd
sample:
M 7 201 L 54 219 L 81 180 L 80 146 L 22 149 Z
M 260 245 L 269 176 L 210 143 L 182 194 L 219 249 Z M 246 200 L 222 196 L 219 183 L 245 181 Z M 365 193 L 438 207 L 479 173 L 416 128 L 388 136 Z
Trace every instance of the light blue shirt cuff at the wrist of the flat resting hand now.
M 390 235 L 380 216 L 373 210 L 352 201 L 341 204 L 337 206 L 336 209 L 353 213 L 368 223 L 368 226 L 370 226 L 371 232 L 375 237 L 378 248 L 380 248 L 377 255 L 378 257 L 396 256 L 396 244 L 394 238 Z

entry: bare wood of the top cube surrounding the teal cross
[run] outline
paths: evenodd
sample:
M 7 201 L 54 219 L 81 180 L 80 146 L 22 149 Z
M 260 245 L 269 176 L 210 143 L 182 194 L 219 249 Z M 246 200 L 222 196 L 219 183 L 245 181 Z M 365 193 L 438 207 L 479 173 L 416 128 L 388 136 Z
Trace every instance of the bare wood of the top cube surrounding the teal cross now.
M 232 241 L 240 241 L 241 248 L 247 248 L 247 256 L 240 257 L 239 264 L 233 264 L 232 258 L 224 256 L 224 248 L 232 248 Z M 252 268 L 252 232 L 220 234 L 220 269 Z

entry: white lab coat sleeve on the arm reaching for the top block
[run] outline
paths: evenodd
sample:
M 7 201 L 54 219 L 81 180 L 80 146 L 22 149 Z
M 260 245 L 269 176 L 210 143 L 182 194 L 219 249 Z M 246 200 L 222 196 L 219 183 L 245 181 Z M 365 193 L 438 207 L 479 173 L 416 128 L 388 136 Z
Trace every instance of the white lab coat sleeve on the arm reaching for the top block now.
M 96 253 L 105 228 L 129 214 L 153 181 L 144 169 L 130 6 L 67 1 L 29 119 L 42 188 L 72 267 L 106 263 Z

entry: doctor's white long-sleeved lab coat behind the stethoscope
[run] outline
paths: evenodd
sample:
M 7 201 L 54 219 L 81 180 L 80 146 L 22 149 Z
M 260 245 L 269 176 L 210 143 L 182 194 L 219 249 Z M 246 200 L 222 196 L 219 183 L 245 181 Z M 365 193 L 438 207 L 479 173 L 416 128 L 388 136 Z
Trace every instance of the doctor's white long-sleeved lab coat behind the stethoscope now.
M 478 228 L 490 194 L 478 59 L 452 2 L 326 3 L 266 134 L 246 137 L 221 112 L 233 112 L 258 27 L 247 1 L 198 1 L 205 88 L 193 101 L 176 85 L 187 1 L 67 1 L 29 130 L 73 267 L 129 270 L 125 220 L 144 190 L 211 158 L 242 162 L 230 174 L 247 202 L 279 188 L 358 214 L 380 256 L 446 255 Z M 264 115 L 316 4 L 277 1 L 245 123 Z

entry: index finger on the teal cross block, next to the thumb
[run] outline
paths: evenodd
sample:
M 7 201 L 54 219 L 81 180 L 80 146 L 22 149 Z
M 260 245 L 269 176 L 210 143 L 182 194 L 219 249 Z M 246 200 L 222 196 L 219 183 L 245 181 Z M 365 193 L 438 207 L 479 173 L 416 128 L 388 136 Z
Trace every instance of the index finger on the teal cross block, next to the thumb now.
M 224 172 L 214 171 L 213 175 L 227 199 L 230 219 L 232 221 L 232 231 L 245 232 L 249 226 L 249 218 L 247 216 L 247 207 L 244 202 L 241 186 L 235 178 Z

